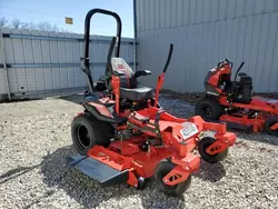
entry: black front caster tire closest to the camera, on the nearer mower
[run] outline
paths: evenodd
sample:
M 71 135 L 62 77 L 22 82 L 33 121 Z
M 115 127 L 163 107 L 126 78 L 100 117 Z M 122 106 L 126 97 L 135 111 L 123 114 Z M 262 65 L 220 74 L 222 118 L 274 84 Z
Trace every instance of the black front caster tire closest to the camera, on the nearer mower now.
M 168 160 L 162 160 L 158 163 L 155 173 L 155 181 L 160 191 L 168 196 L 182 196 L 182 193 L 189 188 L 191 182 L 191 176 L 187 178 L 186 181 L 182 181 L 175 186 L 165 185 L 162 181 L 163 177 L 166 177 L 176 166 Z

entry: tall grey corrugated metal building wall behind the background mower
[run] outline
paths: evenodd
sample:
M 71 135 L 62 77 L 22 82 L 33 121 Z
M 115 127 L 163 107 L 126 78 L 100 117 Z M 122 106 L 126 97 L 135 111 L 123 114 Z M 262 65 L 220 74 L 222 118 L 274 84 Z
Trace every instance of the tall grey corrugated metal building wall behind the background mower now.
M 175 44 L 165 88 L 202 91 L 209 69 L 228 58 L 254 78 L 255 90 L 278 91 L 277 0 L 137 0 L 139 69 L 156 83 Z M 151 23 L 149 23 L 151 22 Z

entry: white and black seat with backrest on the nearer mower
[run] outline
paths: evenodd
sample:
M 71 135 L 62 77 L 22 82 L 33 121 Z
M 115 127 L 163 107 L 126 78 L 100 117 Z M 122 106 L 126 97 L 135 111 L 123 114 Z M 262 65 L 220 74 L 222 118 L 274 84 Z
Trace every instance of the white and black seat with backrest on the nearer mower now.
M 138 87 L 137 76 L 121 58 L 112 58 L 112 70 L 120 77 L 120 98 L 140 101 L 153 97 L 155 89 Z

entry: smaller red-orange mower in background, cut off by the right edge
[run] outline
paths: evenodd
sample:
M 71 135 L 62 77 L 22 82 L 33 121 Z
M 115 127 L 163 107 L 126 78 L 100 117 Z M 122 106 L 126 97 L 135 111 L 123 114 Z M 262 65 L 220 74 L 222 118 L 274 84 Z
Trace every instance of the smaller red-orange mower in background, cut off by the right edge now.
M 197 102 L 196 115 L 206 121 L 226 122 L 228 128 L 278 136 L 278 100 L 252 97 L 252 79 L 239 72 L 244 64 L 237 69 L 234 80 L 234 64 L 228 59 L 208 72 L 206 96 Z

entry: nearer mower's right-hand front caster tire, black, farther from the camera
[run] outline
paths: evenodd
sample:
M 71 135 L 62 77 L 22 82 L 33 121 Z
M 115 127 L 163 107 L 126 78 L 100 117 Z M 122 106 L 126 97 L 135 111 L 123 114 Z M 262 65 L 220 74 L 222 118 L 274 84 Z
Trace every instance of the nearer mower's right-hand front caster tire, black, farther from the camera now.
M 212 137 L 203 137 L 198 142 L 198 151 L 199 151 L 201 158 L 205 161 L 210 162 L 210 163 L 216 163 L 216 162 L 222 161 L 228 155 L 228 148 L 226 150 L 224 150 L 222 152 L 216 153 L 216 155 L 212 155 L 212 156 L 207 153 L 206 149 L 210 145 L 212 145 L 215 141 L 216 141 L 216 139 L 212 138 Z

